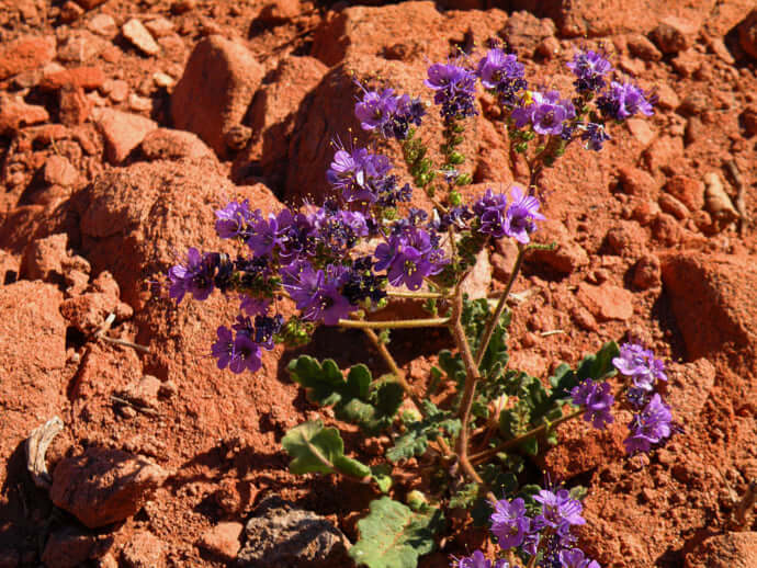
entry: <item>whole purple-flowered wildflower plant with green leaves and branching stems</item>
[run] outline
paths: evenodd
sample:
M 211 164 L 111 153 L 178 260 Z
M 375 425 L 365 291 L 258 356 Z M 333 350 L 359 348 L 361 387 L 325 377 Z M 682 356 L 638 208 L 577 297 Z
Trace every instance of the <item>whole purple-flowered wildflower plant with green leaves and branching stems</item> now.
M 580 500 L 567 489 L 528 485 L 528 456 L 556 443 L 560 423 L 583 418 L 601 430 L 619 406 L 633 413 L 629 453 L 648 452 L 670 435 L 670 408 L 659 389 L 665 367 L 641 345 L 607 343 L 576 368 L 562 364 L 545 379 L 508 365 L 508 296 L 526 254 L 539 247 L 531 237 L 545 219 L 540 174 L 573 143 L 599 151 L 613 123 L 653 112 L 654 98 L 615 77 L 606 54 L 580 52 L 567 67 L 575 76 L 569 94 L 529 83 L 517 56 L 497 45 L 477 60 L 434 63 L 423 81 L 433 109 L 392 86 L 360 86 L 357 123 L 376 140 L 400 146 L 409 180 L 376 145 L 339 145 L 325 172 L 332 192 L 324 203 L 263 215 L 248 201 L 233 201 L 215 212 L 215 228 L 238 245 L 237 254 L 191 248 L 168 272 L 177 303 L 204 300 L 216 288 L 238 303 L 236 320 L 216 330 L 211 347 L 219 370 L 255 373 L 262 351 L 302 345 L 318 326 L 362 330 L 383 357 L 389 373 L 381 377 L 362 364 L 341 370 L 308 355 L 289 365 L 312 404 L 330 407 L 366 436 L 389 441 L 385 461 L 368 465 L 348 456 L 339 431 L 319 420 L 282 440 L 292 473 L 340 475 L 382 495 L 358 523 L 350 554 L 359 565 L 416 566 L 434 548 L 449 511 L 467 509 L 489 521 L 500 554 L 453 558 L 460 568 L 597 568 L 577 547 L 575 530 L 585 523 Z M 465 161 L 459 148 L 478 112 L 479 90 L 500 105 L 511 149 L 526 156 L 530 177 L 463 203 L 459 190 L 471 178 L 459 171 Z M 440 163 L 420 136 L 430 112 L 443 124 Z M 431 211 L 411 206 L 416 191 L 431 197 Z M 512 239 L 518 254 L 490 305 L 465 296 L 462 284 L 477 253 L 496 239 Z M 428 317 L 373 319 L 393 298 L 423 302 Z M 293 304 L 295 314 L 285 318 L 282 303 Z M 430 371 L 429 385 L 448 382 L 456 390 L 439 405 L 408 383 L 387 336 L 431 327 L 447 328 L 454 342 Z M 618 373 L 622 385 L 609 380 Z M 431 472 L 426 495 L 404 495 L 394 485 L 397 464 L 417 467 L 418 475 Z

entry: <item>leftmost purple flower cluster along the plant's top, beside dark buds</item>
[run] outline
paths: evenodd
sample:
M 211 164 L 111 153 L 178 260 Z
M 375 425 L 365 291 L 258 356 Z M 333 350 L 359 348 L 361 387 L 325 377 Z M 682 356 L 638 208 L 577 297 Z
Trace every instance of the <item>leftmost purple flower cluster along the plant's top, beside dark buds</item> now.
M 410 125 L 420 126 L 426 114 L 420 99 L 396 95 L 394 89 L 363 91 L 363 99 L 354 105 L 354 114 L 364 130 L 376 130 L 384 138 L 404 140 Z

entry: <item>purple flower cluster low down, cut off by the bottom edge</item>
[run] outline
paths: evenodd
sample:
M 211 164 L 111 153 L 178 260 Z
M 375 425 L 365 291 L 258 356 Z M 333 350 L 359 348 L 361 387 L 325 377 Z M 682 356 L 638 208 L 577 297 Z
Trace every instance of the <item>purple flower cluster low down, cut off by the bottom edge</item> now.
M 584 505 L 573 499 L 567 489 L 542 489 L 533 497 L 541 504 L 541 511 L 529 515 L 521 498 L 502 499 L 495 504 L 490 516 L 492 534 L 502 550 L 519 549 L 530 557 L 540 557 L 540 566 L 554 568 L 600 568 L 595 560 L 586 558 L 575 547 L 573 529 L 586 523 L 581 516 Z M 456 560 L 457 567 L 516 568 L 504 560 L 487 560 L 477 550 L 467 558 Z M 467 564 L 464 564 L 467 563 Z M 476 564 L 478 563 L 478 564 Z

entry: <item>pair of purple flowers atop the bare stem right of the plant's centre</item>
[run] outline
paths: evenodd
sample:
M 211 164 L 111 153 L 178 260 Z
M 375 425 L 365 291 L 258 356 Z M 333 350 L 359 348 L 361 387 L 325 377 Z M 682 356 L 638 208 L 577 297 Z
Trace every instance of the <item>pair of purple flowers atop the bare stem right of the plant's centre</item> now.
M 479 221 L 478 230 L 495 239 L 512 237 L 521 245 L 528 245 L 530 234 L 536 230 L 534 221 L 544 220 L 539 213 L 539 200 L 527 195 L 519 185 L 510 190 L 511 203 L 501 193 L 486 190 L 483 197 L 473 205 L 473 213 Z

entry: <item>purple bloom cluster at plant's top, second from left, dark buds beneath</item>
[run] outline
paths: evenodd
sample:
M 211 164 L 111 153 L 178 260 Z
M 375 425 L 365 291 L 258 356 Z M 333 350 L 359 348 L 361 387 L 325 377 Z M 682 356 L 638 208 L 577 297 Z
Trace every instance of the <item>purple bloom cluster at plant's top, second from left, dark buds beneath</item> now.
M 433 102 L 441 106 L 447 122 L 476 114 L 476 73 L 455 64 L 433 64 L 428 68 L 426 87 L 433 89 Z

